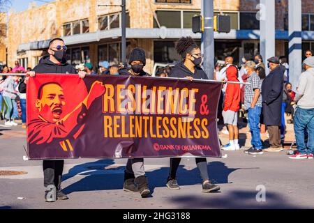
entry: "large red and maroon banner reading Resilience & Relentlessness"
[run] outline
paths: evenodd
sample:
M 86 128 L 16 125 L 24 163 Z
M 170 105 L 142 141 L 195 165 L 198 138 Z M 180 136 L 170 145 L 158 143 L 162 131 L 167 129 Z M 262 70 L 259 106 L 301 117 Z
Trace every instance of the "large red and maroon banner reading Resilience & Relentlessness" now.
M 182 79 L 37 74 L 27 83 L 29 158 L 220 157 L 221 88 Z

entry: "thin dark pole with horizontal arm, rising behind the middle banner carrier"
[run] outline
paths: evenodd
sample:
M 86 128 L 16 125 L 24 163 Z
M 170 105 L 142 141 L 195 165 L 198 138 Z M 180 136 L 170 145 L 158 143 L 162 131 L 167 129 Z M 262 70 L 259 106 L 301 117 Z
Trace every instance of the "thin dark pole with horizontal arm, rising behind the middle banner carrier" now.
M 121 12 L 121 61 L 126 64 L 126 0 L 121 0 L 121 5 L 98 5 L 98 6 L 119 6 Z

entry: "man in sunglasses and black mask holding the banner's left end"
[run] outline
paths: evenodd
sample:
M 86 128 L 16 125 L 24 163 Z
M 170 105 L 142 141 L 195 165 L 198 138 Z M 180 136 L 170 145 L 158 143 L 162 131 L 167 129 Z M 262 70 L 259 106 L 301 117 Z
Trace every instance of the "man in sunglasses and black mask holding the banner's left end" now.
M 35 73 L 51 73 L 51 74 L 75 74 L 75 68 L 66 63 L 66 45 L 61 38 L 50 40 L 48 45 L 48 54 L 40 59 L 38 66 L 33 71 L 27 72 L 24 84 L 27 84 L 29 77 L 35 77 Z M 84 78 L 86 72 L 78 72 L 80 78 Z M 61 178 L 63 172 L 64 160 L 43 160 L 43 174 L 45 201 L 54 202 L 56 198 L 59 200 L 68 199 L 68 196 L 61 191 Z

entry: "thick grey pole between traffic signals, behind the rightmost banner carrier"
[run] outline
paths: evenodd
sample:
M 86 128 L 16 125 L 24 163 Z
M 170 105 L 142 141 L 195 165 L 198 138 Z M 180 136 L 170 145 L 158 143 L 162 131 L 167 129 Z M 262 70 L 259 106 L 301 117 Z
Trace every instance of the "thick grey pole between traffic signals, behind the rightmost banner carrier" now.
M 202 0 L 204 12 L 204 33 L 202 33 L 202 46 L 204 48 L 203 67 L 209 79 L 214 79 L 214 1 Z

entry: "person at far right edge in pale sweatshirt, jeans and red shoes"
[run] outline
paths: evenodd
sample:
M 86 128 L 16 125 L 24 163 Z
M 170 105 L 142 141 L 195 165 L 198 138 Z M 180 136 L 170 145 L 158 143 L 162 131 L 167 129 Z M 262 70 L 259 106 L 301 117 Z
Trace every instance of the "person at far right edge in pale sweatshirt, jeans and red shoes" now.
M 298 153 L 290 159 L 313 159 L 314 154 L 314 56 L 304 61 L 305 72 L 301 73 L 294 101 L 294 134 Z M 308 141 L 306 143 L 306 134 Z

